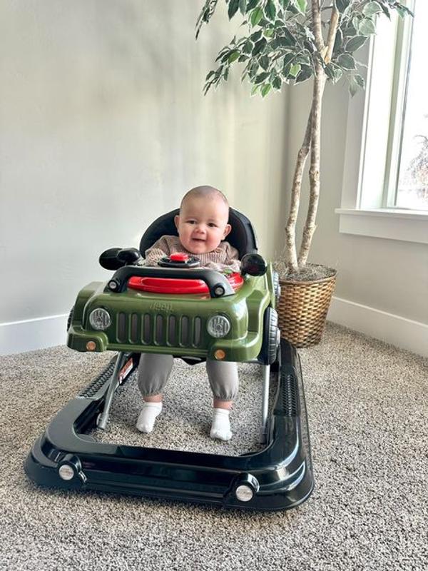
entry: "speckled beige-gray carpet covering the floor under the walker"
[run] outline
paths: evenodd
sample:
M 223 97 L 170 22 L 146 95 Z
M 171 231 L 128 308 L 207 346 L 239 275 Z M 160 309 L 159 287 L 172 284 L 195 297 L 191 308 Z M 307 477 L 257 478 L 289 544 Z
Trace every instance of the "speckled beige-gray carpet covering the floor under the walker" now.
M 0 570 L 427 570 L 427 360 L 337 325 L 300 355 L 316 487 L 272 514 L 36 487 L 22 468 L 32 443 L 110 355 L 58 347 L 0 358 Z M 257 446 L 256 374 L 241 365 L 228 445 L 208 438 L 203 367 L 183 363 L 156 433 L 133 428 L 134 379 L 96 436 L 241 453 Z

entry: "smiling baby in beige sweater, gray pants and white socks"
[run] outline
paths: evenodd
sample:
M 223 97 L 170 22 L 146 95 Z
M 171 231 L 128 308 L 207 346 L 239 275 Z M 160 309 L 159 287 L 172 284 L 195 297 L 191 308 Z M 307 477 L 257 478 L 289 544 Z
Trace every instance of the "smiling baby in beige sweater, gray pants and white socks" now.
M 223 242 L 230 233 L 229 204 L 212 186 L 198 186 L 185 194 L 180 214 L 175 216 L 178 236 L 162 236 L 146 251 L 146 266 L 156 266 L 163 256 L 184 252 L 200 259 L 200 266 L 216 271 L 240 271 L 238 250 Z M 138 388 L 143 408 L 137 428 L 151 433 L 162 410 L 163 389 L 173 368 L 172 355 L 143 353 L 138 367 Z M 229 413 L 238 393 L 238 368 L 228 361 L 206 360 L 213 391 L 213 423 L 210 437 L 230 440 Z

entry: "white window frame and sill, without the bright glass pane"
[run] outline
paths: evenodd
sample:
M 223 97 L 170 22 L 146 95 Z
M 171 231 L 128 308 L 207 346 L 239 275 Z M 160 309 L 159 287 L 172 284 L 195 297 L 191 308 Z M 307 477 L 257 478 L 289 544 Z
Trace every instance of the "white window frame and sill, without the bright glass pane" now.
M 412 9 L 414 0 L 407 4 Z M 378 22 L 377 36 L 360 52 L 362 63 L 367 63 L 367 89 L 348 103 L 342 202 L 335 212 L 341 233 L 428 243 L 428 211 L 394 206 L 412 18 L 395 15 L 391 22 L 383 20 Z M 393 54 L 389 61 L 385 53 Z M 379 103 L 385 99 L 388 106 Z M 376 126 L 373 120 L 370 123 L 373 113 Z M 371 156 L 370 148 L 379 152 Z

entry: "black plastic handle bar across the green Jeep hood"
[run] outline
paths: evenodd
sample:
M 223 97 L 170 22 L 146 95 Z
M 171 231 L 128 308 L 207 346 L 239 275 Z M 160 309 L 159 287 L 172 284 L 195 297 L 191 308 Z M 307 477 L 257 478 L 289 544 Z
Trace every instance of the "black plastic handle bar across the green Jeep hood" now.
M 126 290 L 129 278 L 180 278 L 185 280 L 203 280 L 208 285 L 210 296 L 220 298 L 223 295 L 233 295 L 235 290 L 228 279 L 215 270 L 202 268 L 199 270 L 180 268 L 152 268 L 151 266 L 124 266 L 119 268 L 108 281 L 104 291 L 122 293 Z

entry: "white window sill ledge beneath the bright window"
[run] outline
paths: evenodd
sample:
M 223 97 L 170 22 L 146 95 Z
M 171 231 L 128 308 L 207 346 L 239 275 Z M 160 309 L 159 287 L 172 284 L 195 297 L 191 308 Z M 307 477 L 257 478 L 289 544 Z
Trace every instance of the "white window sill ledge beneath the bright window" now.
M 428 244 L 427 211 L 336 208 L 335 213 L 340 233 Z

